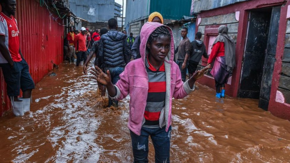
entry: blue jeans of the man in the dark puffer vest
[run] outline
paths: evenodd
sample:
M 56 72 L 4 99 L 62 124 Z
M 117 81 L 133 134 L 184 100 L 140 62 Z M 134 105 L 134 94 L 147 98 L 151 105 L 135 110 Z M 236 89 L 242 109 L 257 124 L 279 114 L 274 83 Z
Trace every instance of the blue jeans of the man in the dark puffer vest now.
M 116 84 L 120 80 L 119 75 L 124 71 L 124 67 L 105 67 L 105 73 L 107 73 L 107 70 L 110 71 L 112 83 Z M 109 97 L 109 107 L 111 105 L 118 107 L 118 100 L 112 100 Z

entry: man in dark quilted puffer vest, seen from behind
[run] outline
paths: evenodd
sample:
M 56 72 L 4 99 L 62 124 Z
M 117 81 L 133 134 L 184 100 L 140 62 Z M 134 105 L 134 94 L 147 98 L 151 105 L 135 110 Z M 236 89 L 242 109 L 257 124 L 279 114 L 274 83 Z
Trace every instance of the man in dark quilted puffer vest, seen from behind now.
M 100 39 L 99 65 L 102 65 L 105 72 L 109 70 L 112 83 L 116 84 L 125 65 L 130 61 L 130 50 L 127 35 L 117 31 L 118 22 L 115 18 L 108 20 L 108 28 L 110 30 Z M 109 97 L 109 107 L 111 105 L 117 107 L 118 101 Z

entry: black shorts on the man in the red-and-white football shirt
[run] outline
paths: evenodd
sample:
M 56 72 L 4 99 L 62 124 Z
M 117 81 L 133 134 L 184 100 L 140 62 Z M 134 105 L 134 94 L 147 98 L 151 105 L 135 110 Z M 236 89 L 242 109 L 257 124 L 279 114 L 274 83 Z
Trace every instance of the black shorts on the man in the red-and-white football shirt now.
M 29 74 L 28 64 L 24 59 L 20 62 L 14 62 L 12 68 L 8 63 L 0 64 L 0 66 L 7 84 L 8 96 L 19 96 L 20 88 L 22 91 L 35 88 Z

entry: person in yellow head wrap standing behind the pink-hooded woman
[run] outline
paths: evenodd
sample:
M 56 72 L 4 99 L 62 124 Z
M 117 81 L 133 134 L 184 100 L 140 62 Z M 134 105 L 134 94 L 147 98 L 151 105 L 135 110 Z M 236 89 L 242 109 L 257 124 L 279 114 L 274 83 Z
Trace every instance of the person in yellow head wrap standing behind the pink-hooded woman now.
M 159 12 L 152 12 L 148 17 L 148 22 L 157 22 L 163 24 L 163 17 Z M 140 55 L 140 35 L 135 38 L 135 41 L 130 49 L 133 59 L 141 58 Z

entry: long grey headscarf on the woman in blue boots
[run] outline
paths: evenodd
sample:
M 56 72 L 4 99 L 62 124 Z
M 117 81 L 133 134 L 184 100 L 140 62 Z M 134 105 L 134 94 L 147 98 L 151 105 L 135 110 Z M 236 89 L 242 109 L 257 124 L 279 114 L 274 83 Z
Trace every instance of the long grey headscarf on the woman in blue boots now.
M 228 37 L 227 26 L 222 25 L 218 27 L 218 37 L 215 39 L 213 45 L 215 45 L 217 42 L 224 42 L 226 65 L 228 67 L 227 71 L 233 73 L 233 69 L 236 66 L 236 45 L 234 43 L 234 40 Z

